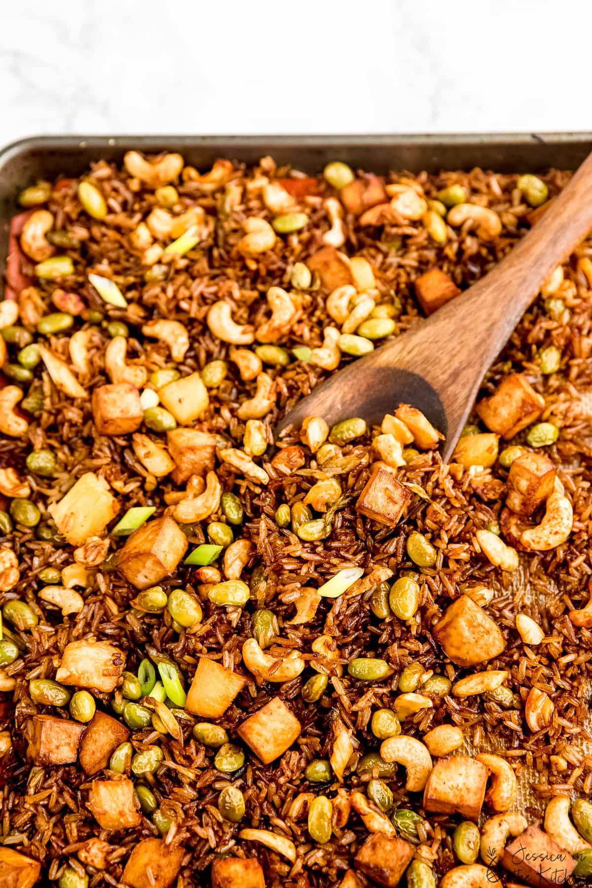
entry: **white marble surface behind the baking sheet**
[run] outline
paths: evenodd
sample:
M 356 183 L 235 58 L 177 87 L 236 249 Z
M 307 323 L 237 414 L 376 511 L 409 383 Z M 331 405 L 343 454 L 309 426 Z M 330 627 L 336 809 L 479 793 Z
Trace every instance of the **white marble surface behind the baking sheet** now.
M 586 0 L 0 0 L 40 133 L 592 130 Z

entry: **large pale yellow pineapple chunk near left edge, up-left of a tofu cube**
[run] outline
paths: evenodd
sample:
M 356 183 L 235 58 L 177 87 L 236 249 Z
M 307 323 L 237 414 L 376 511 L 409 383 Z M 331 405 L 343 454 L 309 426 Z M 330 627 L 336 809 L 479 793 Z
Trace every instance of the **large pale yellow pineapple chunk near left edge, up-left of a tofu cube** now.
M 85 472 L 59 503 L 49 507 L 51 518 L 68 543 L 82 546 L 91 536 L 101 536 L 119 504 L 107 481 L 94 472 Z

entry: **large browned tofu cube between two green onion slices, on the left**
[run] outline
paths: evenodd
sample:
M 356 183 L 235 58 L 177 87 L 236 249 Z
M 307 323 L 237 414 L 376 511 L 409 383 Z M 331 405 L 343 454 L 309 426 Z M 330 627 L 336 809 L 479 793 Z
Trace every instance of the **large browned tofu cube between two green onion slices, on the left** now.
M 123 546 L 117 569 L 136 589 L 149 589 L 175 571 L 187 544 L 187 537 L 168 515 L 147 521 Z

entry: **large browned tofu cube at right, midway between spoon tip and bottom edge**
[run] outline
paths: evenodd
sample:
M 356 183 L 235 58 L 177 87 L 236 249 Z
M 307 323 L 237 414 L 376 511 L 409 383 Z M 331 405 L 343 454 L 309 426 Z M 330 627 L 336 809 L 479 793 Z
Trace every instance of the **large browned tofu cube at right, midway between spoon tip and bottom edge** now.
M 492 618 L 468 595 L 461 595 L 446 607 L 433 631 L 446 656 L 457 666 L 492 660 L 506 646 Z

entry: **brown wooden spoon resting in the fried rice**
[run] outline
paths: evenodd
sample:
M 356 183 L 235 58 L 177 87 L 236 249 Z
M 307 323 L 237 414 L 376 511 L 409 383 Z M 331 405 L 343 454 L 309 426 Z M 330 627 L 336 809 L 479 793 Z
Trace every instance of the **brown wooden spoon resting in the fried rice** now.
M 553 269 L 592 228 L 592 155 L 514 249 L 472 287 L 425 321 L 329 377 L 281 420 L 332 425 L 351 416 L 380 424 L 411 404 L 445 435 L 452 456 L 485 371 Z

